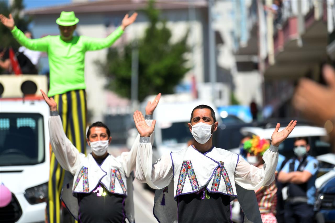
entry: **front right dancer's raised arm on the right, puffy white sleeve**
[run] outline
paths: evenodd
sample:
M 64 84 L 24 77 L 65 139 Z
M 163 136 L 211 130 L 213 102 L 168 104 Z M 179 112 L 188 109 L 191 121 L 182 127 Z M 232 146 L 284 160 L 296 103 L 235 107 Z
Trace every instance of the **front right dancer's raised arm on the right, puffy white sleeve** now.
M 262 168 L 255 167 L 240 157 L 235 170 L 235 181 L 247 190 L 258 190 L 267 186 L 275 179 L 276 166 L 278 162 L 278 146 L 292 132 L 296 121 L 291 121 L 287 127 L 278 132 L 278 123 L 272 136 L 270 148 L 263 154 L 264 165 Z

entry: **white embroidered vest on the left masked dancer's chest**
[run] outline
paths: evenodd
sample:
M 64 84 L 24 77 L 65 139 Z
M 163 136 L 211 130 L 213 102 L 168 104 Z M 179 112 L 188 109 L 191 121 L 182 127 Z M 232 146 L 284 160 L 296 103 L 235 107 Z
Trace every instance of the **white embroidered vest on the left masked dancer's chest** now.
M 99 166 L 92 154 L 82 159 L 72 184 L 73 193 L 91 193 L 99 183 L 111 193 L 127 196 L 127 184 L 121 162 L 108 155 Z

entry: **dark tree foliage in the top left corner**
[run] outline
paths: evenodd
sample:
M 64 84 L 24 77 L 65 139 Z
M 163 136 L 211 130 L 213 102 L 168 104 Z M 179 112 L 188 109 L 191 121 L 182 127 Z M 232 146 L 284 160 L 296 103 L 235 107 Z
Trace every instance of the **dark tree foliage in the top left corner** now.
M 23 0 L 15 0 L 13 4 L 9 7 L 7 2 L 0 1 L 0 13 L 9 16 L 9 13 L 12 13 L 12 16 L 15 21 L 15 25 L 22 31 L 26 31 L 28 24 L 31 22 L 31 18 L 28 19 L 20 17 L 20 12 L 24 9 Z M 7 48 L 9 46 L 14 49 L 19 48 L 19 44 L 13 38 L 10 30 L 0 23 L 0 46 L 2 48 Z

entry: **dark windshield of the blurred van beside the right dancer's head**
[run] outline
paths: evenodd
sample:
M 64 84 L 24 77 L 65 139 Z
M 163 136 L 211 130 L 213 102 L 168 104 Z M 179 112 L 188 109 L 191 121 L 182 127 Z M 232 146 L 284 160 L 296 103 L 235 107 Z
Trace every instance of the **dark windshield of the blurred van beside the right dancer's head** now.
M 167 126 L 166 126 L 167 127 Z M 162 142 L 165 145 L 187 143 L 193 139 L 188 122 L 175 122 L 162 129 Z

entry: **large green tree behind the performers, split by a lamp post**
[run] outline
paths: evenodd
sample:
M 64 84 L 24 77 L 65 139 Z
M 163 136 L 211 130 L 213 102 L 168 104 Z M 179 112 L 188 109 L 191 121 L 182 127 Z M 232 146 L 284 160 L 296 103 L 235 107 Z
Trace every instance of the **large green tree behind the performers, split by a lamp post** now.
M 188 33 L 178 42 L 171 43 L 171 31 L 162 21 L 160 11 L 154 8 L 154 1 L 149 1 L 144 10 L 149 19 L 149 26 L 144 37 L 138 40 L 138 98 L 142 101 L 147 95 L 169 94 L 189 71 L 185 67 L 184 54 L 189 52 L 186 44 Z M 133 24 L 134 25 L 134 24 Z M 119 51 L 110 48 L 107 63 L 99 63 L 103 73 L 110 80 L 107 89 L 122 97 L 131 94 L 132 43 Z

